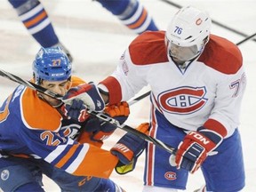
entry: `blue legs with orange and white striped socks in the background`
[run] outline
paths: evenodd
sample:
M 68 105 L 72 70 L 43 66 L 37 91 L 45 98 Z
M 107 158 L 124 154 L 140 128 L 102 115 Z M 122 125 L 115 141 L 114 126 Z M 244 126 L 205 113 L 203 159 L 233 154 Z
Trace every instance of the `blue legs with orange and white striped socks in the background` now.
M 72 61 L 70 52 L 60 43 L 52 26 L 52 21 L 39 0 L 9 0 L 9 2 L 17 11 L 29 34 L 36 39 L 38 44 L 43 47 L 61 46 L 67 53 L 69 60 Z M 95 2 L 99 2 L 109 12 L 116 15 L 127 28 L 136 34 L 146 30 L 158 30 L 154 20 L 139 0 L 97 0 Z

